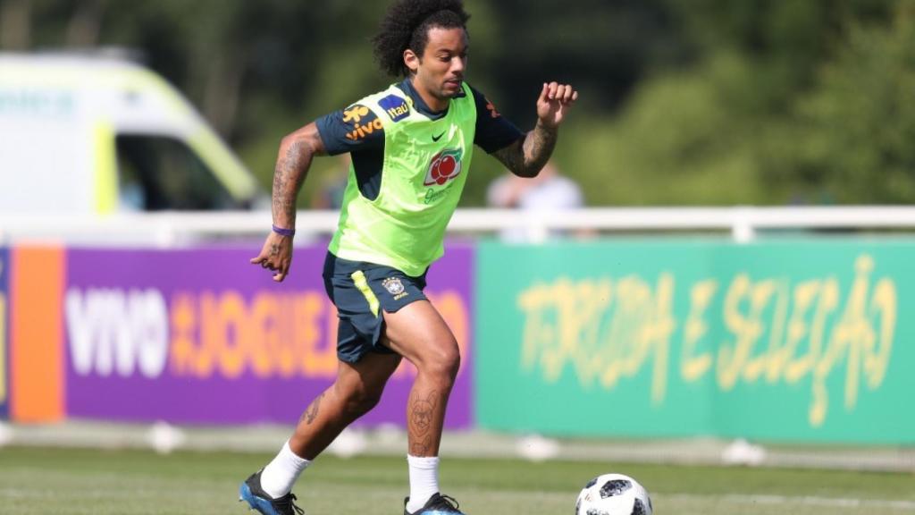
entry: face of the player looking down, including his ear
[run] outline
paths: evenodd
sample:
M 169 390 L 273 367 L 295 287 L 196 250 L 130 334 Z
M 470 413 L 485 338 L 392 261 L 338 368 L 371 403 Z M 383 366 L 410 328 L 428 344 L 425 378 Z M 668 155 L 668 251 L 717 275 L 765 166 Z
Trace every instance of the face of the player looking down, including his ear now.
M 436 109 L 460 93 L 467 68 L 468 40 L 463 28 L 432 27 L 422 56 L 404 52 L 404 62 L 414 72 L 413 85 L 424 97 L 432 97 Z M 424 98 L 428 102 L 428 98 Z

